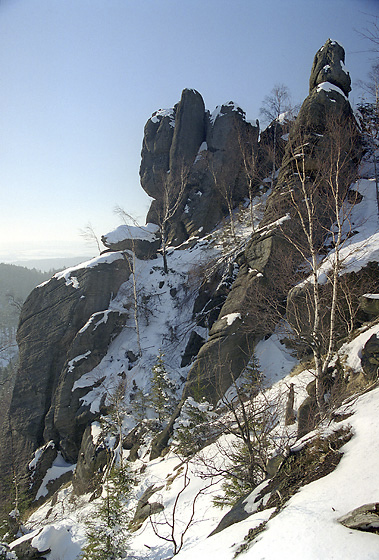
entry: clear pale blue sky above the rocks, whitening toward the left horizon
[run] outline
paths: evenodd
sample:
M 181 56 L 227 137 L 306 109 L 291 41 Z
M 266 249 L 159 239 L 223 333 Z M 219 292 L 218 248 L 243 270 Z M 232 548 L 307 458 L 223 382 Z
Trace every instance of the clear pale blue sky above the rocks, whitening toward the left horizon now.
M 308 94 L 316 51 L 346 51 L 354 88 L 375 56 L 379 0 L 0 0 L 0 261 L 96 254 L 80 235 L 140 223 L 143 128 L 184 88 L 255 121 L 275 84 Z

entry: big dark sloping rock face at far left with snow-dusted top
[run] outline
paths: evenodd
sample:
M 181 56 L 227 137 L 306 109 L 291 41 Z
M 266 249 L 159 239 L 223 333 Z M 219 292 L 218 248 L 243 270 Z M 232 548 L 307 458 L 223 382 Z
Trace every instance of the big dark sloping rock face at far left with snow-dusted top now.
M 12 460 L 24 475 L 33 453 L 49 441 L 66 461 L 76 462 L 91 414 L 80 402 L 88 388 L 72 391 L 73 384 L 100 362 L 120 331 L 124 317 L 108 307 L 129 274 L 122 255 L 113 253 L 56 275 L 25 302 L 17 335 L 19 370 L 6 423 L 12 429 Z M 9 430 L 2 435 L 5 468 L 10 437 Z

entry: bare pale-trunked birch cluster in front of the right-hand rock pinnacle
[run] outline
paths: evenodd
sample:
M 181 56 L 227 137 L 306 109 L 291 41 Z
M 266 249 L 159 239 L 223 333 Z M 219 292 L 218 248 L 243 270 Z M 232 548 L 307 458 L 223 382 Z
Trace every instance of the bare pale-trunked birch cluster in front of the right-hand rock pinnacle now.
M 290 144 L 293 175 L 286 196 L 292 217 L 281 227 L 281 233 L 308 264 L 310 277 L 302 288 L 302 305 L 299 307 L 296 297 L 292 300 L 289 320 L 297 337 L 307 338 L 312 349 L 321 416 L 325 412 L 324 381 L 336 344 L 342 249 L 351 232 L 352 205 L 346 204 L 346 198 L 356 179 L 352 164 L 356 142 L 354 123 L 339 115 L 329 117 L 321 145 L 312 145 L 301 131 Z M 326 244 L 332 252 L 321 279 L 320 262 Z M 311 325 L 308 332 L 304 329 L 307 322 Z

